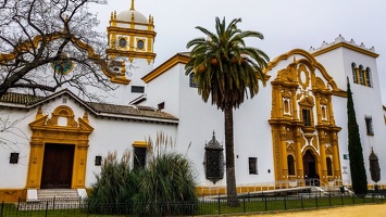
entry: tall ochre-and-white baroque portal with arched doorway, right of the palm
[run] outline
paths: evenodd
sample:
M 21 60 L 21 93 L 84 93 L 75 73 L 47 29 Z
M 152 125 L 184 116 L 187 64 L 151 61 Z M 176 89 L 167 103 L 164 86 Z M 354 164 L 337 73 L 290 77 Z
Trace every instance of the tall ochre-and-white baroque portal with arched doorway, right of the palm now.
M 345 97 L 345 92 L 337 88 L 323 65 L 303 50 L 278 56 L 269 69 L 292 56 L 292 63 L 279 69 L 271 82 L 269 123 L 275 180 L 320 177 L 328 183 L 341 178 L 337 136 L 341 128 L 335 125 L 332 95 Z M 308 161 L 303 158 L 306 154 Z

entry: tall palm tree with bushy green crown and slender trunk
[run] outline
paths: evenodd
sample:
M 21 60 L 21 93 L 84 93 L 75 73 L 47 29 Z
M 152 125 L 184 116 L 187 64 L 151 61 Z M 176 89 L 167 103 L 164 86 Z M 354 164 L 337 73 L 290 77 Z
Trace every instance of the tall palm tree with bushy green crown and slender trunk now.
M 198 93 L 204 102 L 211 97 L 212 104 L 224 113 L 225 152 L 226 152 L 226 186 L 227 203 L 237 206 L 233 110 L 238 108 L 245 98 L 253 98 L 259 91 L 259 80 L 265 85 L 263 68 L 266 67 L 269 56 L 261 50 L 246 47 L 245 38 L 257 37 L 263 39 L 259 31 L 237 28 L 241 18 L 235 18 L 228 26 L 225 17 L 215 18 L 215 30 L 197 26 L 206 34 L 190 40 L 187 48 L 191 48 L 190 61 L 186 64 L 186 75 L 194 73 L 198 85 Z

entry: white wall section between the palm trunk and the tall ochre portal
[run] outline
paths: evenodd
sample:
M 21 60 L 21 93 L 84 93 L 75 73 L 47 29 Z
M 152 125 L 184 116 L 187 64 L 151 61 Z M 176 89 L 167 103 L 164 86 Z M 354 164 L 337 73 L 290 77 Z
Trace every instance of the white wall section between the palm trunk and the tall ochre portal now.
M 274 158 L 271 118 L 272 87 L 260 82 L 258 95 L 246 99 L 234 115 L 236 177 L 238 184 L 273 182 Z M 249 157 L 258 157 L 258 175 L 249 174 Z M 269 173 L 270 169 L 270 173 Z

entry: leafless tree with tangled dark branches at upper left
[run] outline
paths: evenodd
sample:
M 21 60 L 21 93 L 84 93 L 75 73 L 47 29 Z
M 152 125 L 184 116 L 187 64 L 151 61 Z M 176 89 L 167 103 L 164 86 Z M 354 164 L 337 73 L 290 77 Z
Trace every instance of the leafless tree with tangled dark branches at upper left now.
M 0 97 L 70 88 L 97 99 L 89 87 L 109 91 L 111 80 L 127 81 L 109 68 L 99 21 L 88 11 L 94 3 L 107 0 L 0 0 Z

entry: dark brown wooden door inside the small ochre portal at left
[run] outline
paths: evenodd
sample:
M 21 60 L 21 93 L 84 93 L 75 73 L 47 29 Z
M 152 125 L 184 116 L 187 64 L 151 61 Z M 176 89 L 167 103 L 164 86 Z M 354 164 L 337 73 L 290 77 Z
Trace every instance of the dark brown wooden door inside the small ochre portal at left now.
M 70 189 L 73 177 L 73 144 L 46 144 L 41 189 Z

